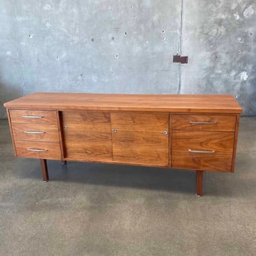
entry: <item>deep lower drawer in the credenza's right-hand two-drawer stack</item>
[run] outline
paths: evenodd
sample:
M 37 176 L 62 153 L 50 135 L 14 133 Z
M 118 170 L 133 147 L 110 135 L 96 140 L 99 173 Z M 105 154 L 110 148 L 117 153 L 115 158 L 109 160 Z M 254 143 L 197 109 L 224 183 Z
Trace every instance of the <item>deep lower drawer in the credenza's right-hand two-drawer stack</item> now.
M 172 167 L 231 171 L 233 132 L 173 131 Z

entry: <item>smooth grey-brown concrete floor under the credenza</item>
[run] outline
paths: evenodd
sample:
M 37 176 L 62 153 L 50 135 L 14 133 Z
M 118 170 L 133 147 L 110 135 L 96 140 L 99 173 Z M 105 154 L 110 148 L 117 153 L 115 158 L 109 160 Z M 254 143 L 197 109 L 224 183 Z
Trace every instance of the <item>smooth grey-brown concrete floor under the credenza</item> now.
M 0 122 L 0 255 L 256 255 L 256 117 L 235 173 L 15 158 Z

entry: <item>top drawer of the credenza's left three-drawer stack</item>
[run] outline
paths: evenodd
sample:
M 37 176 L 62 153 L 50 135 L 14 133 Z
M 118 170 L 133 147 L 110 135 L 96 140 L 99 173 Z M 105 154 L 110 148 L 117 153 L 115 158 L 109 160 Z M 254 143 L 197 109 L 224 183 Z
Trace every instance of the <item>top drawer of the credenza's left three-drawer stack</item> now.
M 10 109 L 12 123 L 57 124 L 56 111 L 32 111 Z

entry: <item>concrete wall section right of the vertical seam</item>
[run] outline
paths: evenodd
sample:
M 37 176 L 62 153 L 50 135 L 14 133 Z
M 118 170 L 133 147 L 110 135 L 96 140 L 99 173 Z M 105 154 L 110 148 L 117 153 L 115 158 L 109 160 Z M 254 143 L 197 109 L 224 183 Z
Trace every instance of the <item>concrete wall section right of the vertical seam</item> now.
M 256 114 L 256 1 L 186 1 L 182 94 L 233 94 Z

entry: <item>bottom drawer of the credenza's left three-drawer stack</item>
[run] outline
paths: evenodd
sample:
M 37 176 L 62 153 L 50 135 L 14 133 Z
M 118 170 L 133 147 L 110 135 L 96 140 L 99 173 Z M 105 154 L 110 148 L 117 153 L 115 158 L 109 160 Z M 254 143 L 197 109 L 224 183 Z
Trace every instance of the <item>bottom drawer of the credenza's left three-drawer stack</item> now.
M 18 157 L 61 159 L 59 143 L 15 141 L 15 147 Z

